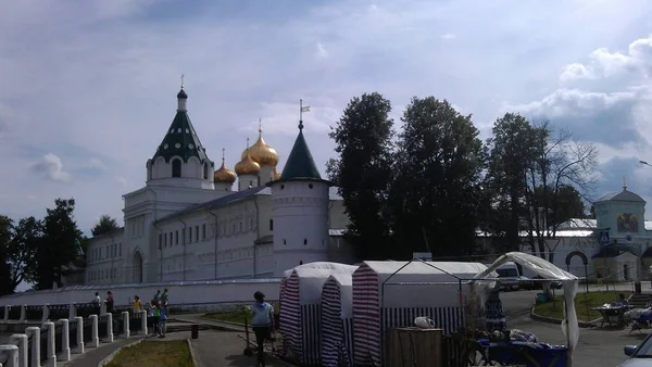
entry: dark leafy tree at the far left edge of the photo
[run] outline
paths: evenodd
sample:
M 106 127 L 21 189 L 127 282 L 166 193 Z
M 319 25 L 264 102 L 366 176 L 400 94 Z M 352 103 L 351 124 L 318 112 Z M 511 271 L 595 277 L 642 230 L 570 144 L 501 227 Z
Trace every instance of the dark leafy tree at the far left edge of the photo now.
M 36 273 L 36 253 L 42 241 L 43 225 L 35 217 L 27 217 L 13 225 L 10 219 L 10 233 L 7 241 L 7 258 L 11 291 L 23 281 L 32 281 Z

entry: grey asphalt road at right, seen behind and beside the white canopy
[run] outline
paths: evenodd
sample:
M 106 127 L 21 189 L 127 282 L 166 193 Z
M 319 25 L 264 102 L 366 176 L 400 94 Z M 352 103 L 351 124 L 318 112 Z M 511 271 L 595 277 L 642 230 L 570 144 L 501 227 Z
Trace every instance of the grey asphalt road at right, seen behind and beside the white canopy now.
M 532 332 L 541 342 L 565 344 L 565 338 L 559 325 L 535 321 L 529 318 L 529 311 L 537 293 L 537 291 L 501 293 L 507 327 Z M 573 366 L 615 367 L 627 359 L 623 354 L 623 346 L 638 344 L 644 337 L 645 332 L 639 331 L 629 334 L 629 328 L 623 330 L 580 328 L 579 344 L 575 351 Z

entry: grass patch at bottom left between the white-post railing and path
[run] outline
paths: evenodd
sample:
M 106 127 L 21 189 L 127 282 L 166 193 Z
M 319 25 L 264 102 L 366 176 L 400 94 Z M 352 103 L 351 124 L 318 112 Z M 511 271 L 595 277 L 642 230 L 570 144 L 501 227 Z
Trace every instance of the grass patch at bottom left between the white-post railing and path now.
M 185 340 L 142 342 L 123 349 L 106 367 L 192 367 L 192 357 Z

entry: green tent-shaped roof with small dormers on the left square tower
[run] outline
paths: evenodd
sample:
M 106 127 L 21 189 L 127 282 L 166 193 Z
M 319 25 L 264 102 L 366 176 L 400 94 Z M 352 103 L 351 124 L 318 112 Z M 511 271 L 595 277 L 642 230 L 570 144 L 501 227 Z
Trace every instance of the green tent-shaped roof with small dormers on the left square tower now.
M 199 141 L 195 127 L 190 123 L 190 117 L 185 107 L 188 94 L 181 89 L 177 94 L 179 109 L 177 110 L 167 132 L 156 149 L 152 161 L 162 156 L 165 162 L 170 162 L 173 156 L 179 156 L 184 162 L 188 162 L 191 156 L 199 159 L 201 163 L 209 161 L 205 148 Z

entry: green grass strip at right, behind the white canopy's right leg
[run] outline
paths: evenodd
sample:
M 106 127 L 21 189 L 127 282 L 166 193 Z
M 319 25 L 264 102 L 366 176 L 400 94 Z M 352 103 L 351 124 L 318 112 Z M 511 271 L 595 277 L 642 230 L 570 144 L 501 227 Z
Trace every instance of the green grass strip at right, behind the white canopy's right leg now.
M 592 311 L 593 307 L 600 307 L 605 303 L 612 303 L 618 299 L 618 294 L 624 293 L 625 298 L 629 296 L 629 292 L 590 292 L 590 293 L 577 293 L 575 296 L 575 312 L 577 318 L 582 321 L 591 321 L 600 317 L 600 313 Z M 563 318 L 564 317 L 564 296 L 557 295 L 554 298 L 554 302 L 548 301 L 547 303 L 537 304 L 535 306 L 535 314 L 539 316 Z M 587 307 L 588 305 L 588 307 Z M 588 308 L 588 313 L 587 313 Z

